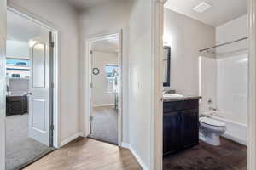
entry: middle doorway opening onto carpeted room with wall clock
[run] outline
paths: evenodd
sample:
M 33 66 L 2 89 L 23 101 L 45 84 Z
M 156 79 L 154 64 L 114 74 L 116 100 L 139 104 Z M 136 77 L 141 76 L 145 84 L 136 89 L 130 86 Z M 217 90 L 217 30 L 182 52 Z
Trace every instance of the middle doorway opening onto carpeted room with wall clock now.
M 121 33 L 88 41 L 90 59 L 89 134 L 111 144 L 121 141 L 122 52 Z

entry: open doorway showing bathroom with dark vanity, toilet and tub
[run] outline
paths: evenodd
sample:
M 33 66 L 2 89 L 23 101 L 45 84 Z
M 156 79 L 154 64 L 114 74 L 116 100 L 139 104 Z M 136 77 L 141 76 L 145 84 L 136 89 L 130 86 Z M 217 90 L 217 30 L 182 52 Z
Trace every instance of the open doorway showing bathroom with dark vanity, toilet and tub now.
M 247 9 L 244 0 L 166 1 L 171 77 L 163 95 L 163 169 L 247 169 Z

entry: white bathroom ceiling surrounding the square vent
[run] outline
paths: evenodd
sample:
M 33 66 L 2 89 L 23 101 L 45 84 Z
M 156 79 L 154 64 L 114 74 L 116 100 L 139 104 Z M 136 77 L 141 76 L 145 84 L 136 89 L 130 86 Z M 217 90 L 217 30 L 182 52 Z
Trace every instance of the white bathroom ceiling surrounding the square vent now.
M 210 3 L 212 8 L 205 13 L 196 13 L 193 8 L 201 2 Z M 247 0 L 168 0 L 165 8 L 184 14 L 210 26 L 219 26 L 247 14 Z

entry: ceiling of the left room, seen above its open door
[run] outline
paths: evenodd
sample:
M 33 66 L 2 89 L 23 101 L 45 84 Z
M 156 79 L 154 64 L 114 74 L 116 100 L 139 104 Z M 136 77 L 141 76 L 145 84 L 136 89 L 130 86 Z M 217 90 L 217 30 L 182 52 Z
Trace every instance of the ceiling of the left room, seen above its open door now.
M 7 11 L 7 37 L 10 40 L 28 42 L 29 39 L 40 35 L 42 27 L 31 20 L 26 20 L 18 14 Z

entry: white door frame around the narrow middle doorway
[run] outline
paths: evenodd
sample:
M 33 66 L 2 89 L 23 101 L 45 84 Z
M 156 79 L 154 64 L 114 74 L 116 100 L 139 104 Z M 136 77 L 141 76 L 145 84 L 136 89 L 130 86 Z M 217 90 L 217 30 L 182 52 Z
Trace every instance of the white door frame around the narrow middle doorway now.
M 91 80 L 91 68 L 92 62 L 90 58 L 90 49 L 91 43 L 101 41 L 110 37 L 119 37 L 119 56 L 118 56 L 118 65 L 119 65 L 119 113 L 118 113 L 118 145 L 121 146 L 122 144 L 122 134 L 123 134 L 123 122 L 122 122 L 122 115 L 123 115 L 123 31 L 116 30 L 116 31 L 108 31 L 102 34 L 97 34 L 90 36 L 85 39 L 85 137 L 90 135 L 90 110 L 91 110 L 91 88 L 90 84 Z

